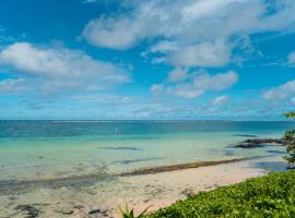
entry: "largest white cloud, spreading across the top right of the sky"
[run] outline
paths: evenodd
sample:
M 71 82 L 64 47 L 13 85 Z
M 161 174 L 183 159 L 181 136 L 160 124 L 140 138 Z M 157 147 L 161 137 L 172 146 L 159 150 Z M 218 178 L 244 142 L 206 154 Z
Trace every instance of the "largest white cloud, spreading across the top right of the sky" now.
M 152 0 L 122 5 L 121 13 L 90 21 L 83 37 L 111 49 L 128 49 L 149 39 L 144 56 L 153 63 L 176 66 L 225 65 L 243 38 L 288 31 L 295 22 L 295 2 L 290 0 Z

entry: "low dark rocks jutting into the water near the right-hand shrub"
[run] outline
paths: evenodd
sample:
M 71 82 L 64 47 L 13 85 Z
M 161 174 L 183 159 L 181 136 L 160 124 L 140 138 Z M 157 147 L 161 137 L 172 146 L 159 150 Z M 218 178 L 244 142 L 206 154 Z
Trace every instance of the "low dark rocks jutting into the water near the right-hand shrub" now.
M 233 147 L 240 147 L 240 148 L 255 148 L 255 147 L 263 147 L 266 145 L 272 146 L 286 146 L 288 145 L 288 141 L 280 140 L 280 138 L 251 138 L 240 142 Z

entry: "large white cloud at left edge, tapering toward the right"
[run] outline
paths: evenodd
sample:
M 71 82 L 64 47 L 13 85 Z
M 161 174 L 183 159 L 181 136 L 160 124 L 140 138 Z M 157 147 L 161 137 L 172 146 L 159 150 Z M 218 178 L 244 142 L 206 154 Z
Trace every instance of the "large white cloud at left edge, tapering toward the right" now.
M 126 71 L 113 63 L 95 60 L 80 50 L 12 44 L 0 52 L 0 65 L 19 72 L 20 80 L 2 81 L 12 89 L 17 84 L 44 94 L 97 90 L 129 82 Z M 1 89 L 1 87 L 0 87 Z

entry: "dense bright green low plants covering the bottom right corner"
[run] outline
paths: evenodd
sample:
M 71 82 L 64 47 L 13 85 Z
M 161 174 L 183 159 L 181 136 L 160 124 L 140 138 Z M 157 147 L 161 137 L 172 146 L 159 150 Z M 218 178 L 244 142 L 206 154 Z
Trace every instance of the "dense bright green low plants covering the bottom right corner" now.
M 210 192 L 200 192 L 145 217 L 295 217 L 295 171 L 270 173 Z

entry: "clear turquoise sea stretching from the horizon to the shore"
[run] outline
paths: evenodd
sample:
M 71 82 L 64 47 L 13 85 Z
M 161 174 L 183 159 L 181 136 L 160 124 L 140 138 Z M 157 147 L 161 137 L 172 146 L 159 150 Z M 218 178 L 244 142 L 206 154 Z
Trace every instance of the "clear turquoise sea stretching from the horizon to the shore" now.
M 228 146 L 250 137 L 281 137 L 294 128 L 294 122 L 1 121 L 0 181 L 267 156 L 269 147 Z

